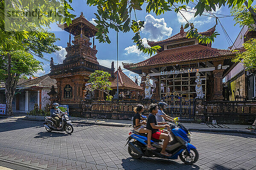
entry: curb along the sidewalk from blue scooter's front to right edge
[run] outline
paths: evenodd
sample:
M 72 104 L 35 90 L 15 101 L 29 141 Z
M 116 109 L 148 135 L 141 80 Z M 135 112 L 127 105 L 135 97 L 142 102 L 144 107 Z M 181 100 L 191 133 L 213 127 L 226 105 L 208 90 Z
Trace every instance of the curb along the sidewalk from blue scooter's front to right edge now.
M 215 133 L 240 133 L 246 135 L 256 135 L 256 132 L 249 132 L 246 130 L 222 130 L 222 129 L 200 129 L 200 128 L 189 128 L 192 132 L 215 132 Z

